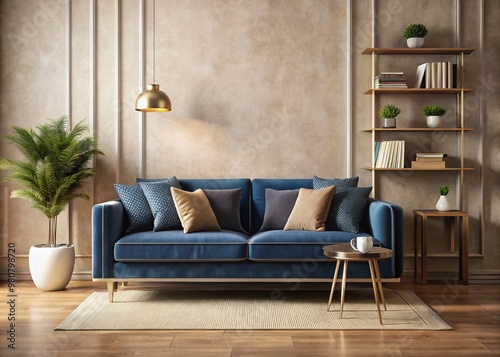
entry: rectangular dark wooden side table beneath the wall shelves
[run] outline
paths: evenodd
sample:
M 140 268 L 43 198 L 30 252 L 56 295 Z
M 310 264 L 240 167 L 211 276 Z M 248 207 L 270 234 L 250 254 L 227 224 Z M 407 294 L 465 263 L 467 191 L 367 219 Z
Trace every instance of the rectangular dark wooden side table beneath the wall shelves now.
M 427 218 L 429 217 L 452 217 L 455 220 L 451 221 L 451 250 L 454 251 L 455 242 L 455 221 L 462 222 L 462 232 L 459 235 L 459 251 L 458 251 L 458 270 L 459 279 L 462 284 L 469 283 L 469 215 L 467 212 L 462 211 L 436 211 L 436 210 L 414 210 L 414 227 L 413 227 L 413 240 L 414 240 L 414 277 L 415 281 L 420 284 L 427 284 Z M 420 222 L 419 222 L 420 219 Z M 420 229 L 419 229 L 420 228 Z M 420 230 L 420 235 L 418 234 Z M 420 238 L 420 281 L 417 279 L 417 263 L 418 263 L 418 240 Z

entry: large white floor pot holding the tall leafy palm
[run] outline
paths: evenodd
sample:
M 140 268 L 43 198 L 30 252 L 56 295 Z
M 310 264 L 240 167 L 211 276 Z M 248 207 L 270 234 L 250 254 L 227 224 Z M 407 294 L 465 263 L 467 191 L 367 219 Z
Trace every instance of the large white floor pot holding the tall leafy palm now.
M 30 248 L 29 267 L 35 285 L 45 291 L 63 290 L 69 283 L 75 266 L 75 247 L 61 244 L 47 247 L 37 244 Z

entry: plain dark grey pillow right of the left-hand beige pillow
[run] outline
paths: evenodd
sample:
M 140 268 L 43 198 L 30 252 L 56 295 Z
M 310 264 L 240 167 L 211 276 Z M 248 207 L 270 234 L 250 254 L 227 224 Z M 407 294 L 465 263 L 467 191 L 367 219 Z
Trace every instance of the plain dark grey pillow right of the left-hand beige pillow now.
M 221 229 L 247 233 L 241 226 L 240 204 L 243 189 L 203 189 Z

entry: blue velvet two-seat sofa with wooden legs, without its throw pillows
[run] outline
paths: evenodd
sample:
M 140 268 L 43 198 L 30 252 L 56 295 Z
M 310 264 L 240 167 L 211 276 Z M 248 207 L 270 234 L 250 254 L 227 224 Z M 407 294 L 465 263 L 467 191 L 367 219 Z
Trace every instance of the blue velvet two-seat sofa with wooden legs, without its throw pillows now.
M 266 189 L 313 188 L 312 179 L 180 179 L 186 191 L 241 189 L 239 214 L 244 231 L 180 230 L 125 233 L 130 224 L 121 200 L 92 208 L 92 278 L 107 282 L 110 301 L 117 284 L 128 282 L 322 282 L 330 281 L 335 262 L 322 247 L 373 236 L 393 250 L 380 261 L 382 279 L 403 273 L 403 211 L 368 198 L 359 232 L 260 231 L 266 210 Z M 248 232 L 248 233 L 246 233 Z M 368 264 L 349 264 L 348 278 L 369 279 Z

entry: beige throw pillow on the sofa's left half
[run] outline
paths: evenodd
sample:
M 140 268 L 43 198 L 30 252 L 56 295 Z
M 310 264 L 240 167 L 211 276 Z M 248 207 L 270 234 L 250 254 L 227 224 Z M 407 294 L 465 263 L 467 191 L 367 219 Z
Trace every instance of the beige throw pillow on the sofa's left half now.
M 194 192 L 171 187 L 175 208 L 181 220 L 184 233 L 199 231 L 220 231 L 217 218 L 202 189 Z

